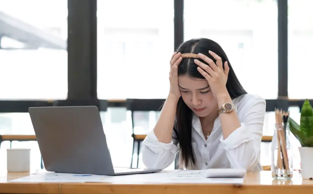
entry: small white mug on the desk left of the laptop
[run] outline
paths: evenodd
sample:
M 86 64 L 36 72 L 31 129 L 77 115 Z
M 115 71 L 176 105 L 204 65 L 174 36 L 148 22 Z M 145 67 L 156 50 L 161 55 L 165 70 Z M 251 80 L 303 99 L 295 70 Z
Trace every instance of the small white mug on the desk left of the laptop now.
M 29 148 L 7 149 L 7 170 L 8 172 L 29 172 L 30 149 Z

